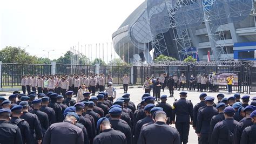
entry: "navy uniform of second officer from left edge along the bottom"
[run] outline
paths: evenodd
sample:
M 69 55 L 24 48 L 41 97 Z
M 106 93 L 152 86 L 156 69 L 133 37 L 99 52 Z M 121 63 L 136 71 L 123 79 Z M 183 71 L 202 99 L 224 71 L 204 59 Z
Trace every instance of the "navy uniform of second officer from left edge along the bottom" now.
M 30 132 L 29 124 L 24 119 L 18 117 L 12 117 L 9 121 L 10 124 L 17 125 L 21 130 L 22 142 L 25 144 L 32 144 L 32 135 Z

